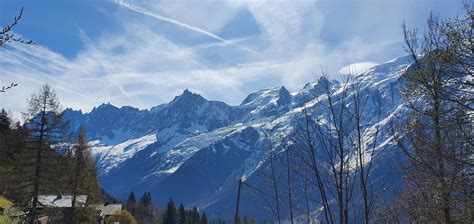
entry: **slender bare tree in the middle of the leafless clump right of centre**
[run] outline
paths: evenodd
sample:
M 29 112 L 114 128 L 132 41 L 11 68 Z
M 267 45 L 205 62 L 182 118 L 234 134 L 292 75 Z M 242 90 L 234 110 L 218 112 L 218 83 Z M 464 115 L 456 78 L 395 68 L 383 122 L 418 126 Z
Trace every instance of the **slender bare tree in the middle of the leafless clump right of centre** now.
M 319 161 L 327 164 L 329 169 L 328 179 L 321 180 L 326 182 L 328 189 L 331 190 L 334 199 L 337 201 L 339 223 L 349 222 L 349 206 L 354 191 L 354 172 L 351 171 L 350 162 L 352 151 L 349 146 L 350 116 L 347 116 L 348 101 L 348 82 L 343 84 L 342 91 L 337 96 L 331 90 L 327 78 L 321 79 L 325 87 L 325 96 L 327 105 L 323 106 L 323 117 L 312 118 L 311 122 L 315 129 L 316 139 L 321 152 Z M 337 98 L 336 98 L 337 97 Z M 324 111 L 325 110 L 325 111 Z M 321 165 L 320 165 L 321 166 Z M 321 179 L 321 177 L 319 177 Z M 328 197 L 328 196 L 326 196 Z

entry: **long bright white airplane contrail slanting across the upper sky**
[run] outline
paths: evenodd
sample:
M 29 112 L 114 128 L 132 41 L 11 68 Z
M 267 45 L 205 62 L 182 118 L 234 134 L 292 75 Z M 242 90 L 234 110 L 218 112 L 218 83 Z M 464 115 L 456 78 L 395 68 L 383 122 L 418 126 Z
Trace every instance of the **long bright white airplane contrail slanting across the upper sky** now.
M 219 41 L 222 41 L 228 45 L 232 45 L 232 46 L 235 46 L 235 47 L 238 47 L 244 51 L 247 51 L 249 53 L 252 53 L 252 54 L 255 54 L 255 55 L 260 55 L 259 53 L 257 53 L 256 51 L 253 51 L 249 48 L 246 48 L 246 47 L 243 47 L 243 46 L 240 46 L 238 44 L 235 44 L 234 42 L 232 41 L 229 41 L 229 40 L 226 40 L 220 36 L 217 36 L 209 31 L 206 31 L 206 30 L 203 30 L 199 27 L 195 27 L 195 26 L 192 26 L 192 25 L 189 25 L 189 24 L 186 24 L 186 23 L 183 23 L 181 21 L 178 21 L 178 20 L 175 20 L 173 18 L 169 18 L 169 17 L 165 17 L 165 16 L 162 16 L 162 15 L 158 15 L 158 14 L 155 14 L 155 13 L 151 13 L 149 11 L 147 11 L 146 9 L 142 8 L 142 7 L 139 7 L 139 6 L 136 6 L 136 5 L 132 5 L 132 4 L 129 4 L 129 3 L 126 3 L 122 0 L 115 0 L 115 3 L 117 3 L 118 5 L 120 6 L 123 6 L 127 9 L 130 9 L 132 11 L 135 11 L 135 12 L 138 12 L 138 13 L 142 13 L 144 15 L 147 15 L 147 16 L 151 16 L 155 19 L 159 19 L 161 21 L 165 21 L 165 22 L 168 22 L 168 23 L 171 23 L 171 24 L 175 24 L 177 26 L 180 26 L 180 27 L 183 27 L 183 28 L 186 28 L 186 29 L 189 29 L 189 30 L 192 30 L 192 31 L 195 31 L 195 32 L 198 32 L 198 33 L 201 33 L 201 34 L 204 34 L 208 37 L 211 37 L 213 39 L 216 39 L 216 40 L 219 40 Z

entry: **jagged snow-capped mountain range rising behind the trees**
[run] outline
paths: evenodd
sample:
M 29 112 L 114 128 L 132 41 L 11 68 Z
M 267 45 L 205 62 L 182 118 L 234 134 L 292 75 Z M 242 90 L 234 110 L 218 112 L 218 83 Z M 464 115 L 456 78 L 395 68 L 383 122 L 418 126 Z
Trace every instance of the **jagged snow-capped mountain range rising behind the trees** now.
M 355 77 L 362 94 L 381 96 L 383 102 L 381 118 L 374 119 L 374 105 L 368 101 L 363 122 L 381 130 L 374 179 L 390 182 L 383 185 L 387 188 L 400 184 L 388 122 L 404 110 L 400 76 L 409 65 L 408 57 L 400 57 Z M 337 100 L 343 85 L 322 77 L 294 93 L 285 87 L 251 93 L 238 106 L 185 90 L 170 103 L 150 110 L 102 104 L 90 113 L 68 109 L 65 115 L 72 128 L 84 125 L 88 130 L 100 181 L 112 195 L 124 198 L 132 190 L 150 191 L 160 205 L 171 197 L 197 205 L 212 217 L 228 218 L 235 209 L 238 179 L 259 184 L 271 138 L 268 133 L 291 134 L 303 110 L 324 113 L 324 85 Z M 267 217 L 250 191 L 242 194 L 243 215 Z

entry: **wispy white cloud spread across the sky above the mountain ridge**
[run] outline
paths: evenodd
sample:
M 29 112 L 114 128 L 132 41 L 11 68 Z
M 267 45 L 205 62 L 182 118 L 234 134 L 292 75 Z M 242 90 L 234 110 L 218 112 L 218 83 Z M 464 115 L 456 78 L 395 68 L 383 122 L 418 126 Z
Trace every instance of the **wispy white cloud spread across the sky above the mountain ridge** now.
M 40 44 L 0 49 L 0 84 L 19 83 L 0 94 L 2 106 L 24 111 L 25 99 L 46 82 L 65 107 L 85 111 L 104 102 L 150 108 L 184 89 L 238 104 L 250 92 L 269 86 L 295 91 L 326 67 L 330 74 L 341 67 L 340 73 L 359 73 L 399 56 L 399 24 L 429 11 L 390 2 L 393 10 L 385 12 L 386 5 L 373 1 L 348 1 L 356 9 L 346 10 L 337 4 L 342 1 L 325 0 L 117 2 L 131 10 L 121 7 L 119 13 L 104 16 L 120 21 L 123 32 L 89 37 L 97 34 L 80 31 L 85 47 L 75 57 L 65 58 Z M 221 37 L 227 23 L 245 10 L 260 32 Z M 165 31 L 192 32 L 178 32 L 185 37 L 161 33 L 157 27 L 163 24 L 157 21 L 172 25 Z M 213 42 L 187 42 L 187 35 L 211 37 Z M 259 56 L 247 53 L 253 51 Z M 226 63 L 217 63 L 216 55 Z

